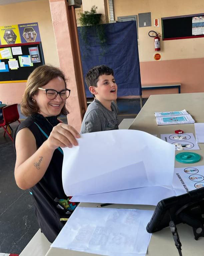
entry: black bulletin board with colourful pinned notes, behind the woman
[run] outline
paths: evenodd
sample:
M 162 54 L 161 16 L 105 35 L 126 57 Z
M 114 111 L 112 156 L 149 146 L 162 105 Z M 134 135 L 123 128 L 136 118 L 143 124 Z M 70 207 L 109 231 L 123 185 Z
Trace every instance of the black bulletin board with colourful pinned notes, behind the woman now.
M 43 64 L 41 42 L 0 45 L 0 83 L 26 82 Z

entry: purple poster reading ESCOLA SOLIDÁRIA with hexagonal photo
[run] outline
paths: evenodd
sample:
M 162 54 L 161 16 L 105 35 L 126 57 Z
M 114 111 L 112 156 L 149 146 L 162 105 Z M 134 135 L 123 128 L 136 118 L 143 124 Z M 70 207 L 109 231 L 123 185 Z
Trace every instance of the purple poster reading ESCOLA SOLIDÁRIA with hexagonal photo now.
M 22 43 L 41 41 L 37 22 L 19 24 L 18 28 L 19 28 Z

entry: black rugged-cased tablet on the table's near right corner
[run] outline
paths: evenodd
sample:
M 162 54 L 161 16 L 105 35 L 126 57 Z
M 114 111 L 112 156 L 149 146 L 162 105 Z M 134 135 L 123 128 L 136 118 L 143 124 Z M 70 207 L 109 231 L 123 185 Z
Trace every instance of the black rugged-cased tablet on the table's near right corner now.
M 174 224 L 186 223 L 193 227 L 194 236 L 197 240 L 204 236 L 204 187 L 192 190 L 186 194 L 161 200 L 154 214 L 147 224 L 148 233 L 154 233 Z M 200 230 L 198 230 L 201 228 Z M 199 231 L 199 232 L 198 232 Z

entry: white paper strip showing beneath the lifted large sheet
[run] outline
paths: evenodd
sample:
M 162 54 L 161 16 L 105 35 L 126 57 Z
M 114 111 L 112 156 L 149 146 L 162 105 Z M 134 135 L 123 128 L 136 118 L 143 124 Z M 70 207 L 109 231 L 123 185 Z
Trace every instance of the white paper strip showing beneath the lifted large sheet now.
M 128 205 L 157 205 L 164 198 L 176 196 L 172 186 L 150 186 L 101 194 L 74 196 L 71 202 L 109 203 Z

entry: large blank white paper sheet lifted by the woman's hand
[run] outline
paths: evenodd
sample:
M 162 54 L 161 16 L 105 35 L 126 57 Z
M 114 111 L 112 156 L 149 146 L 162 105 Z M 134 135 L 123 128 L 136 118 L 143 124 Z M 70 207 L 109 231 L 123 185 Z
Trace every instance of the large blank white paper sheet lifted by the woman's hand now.
M 82 134 L 64 148 L 63 188 L 68 196 L 171 185 L 174 146 L 137 130 Z

